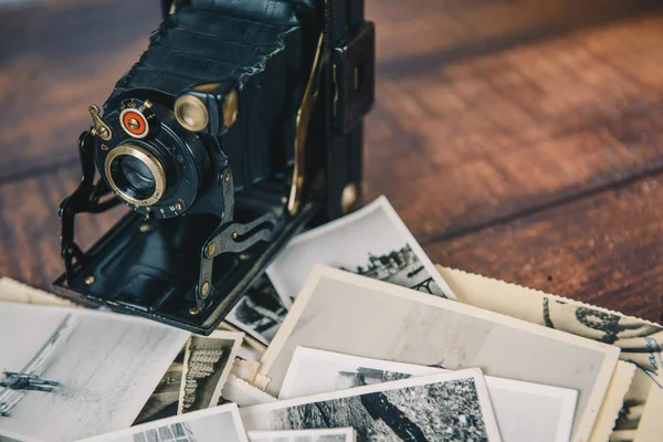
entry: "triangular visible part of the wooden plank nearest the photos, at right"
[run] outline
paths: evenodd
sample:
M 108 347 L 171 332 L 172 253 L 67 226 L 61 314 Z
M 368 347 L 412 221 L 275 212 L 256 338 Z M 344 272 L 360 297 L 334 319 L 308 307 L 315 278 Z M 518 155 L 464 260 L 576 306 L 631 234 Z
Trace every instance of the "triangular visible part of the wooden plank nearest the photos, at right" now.
M 434 262 L 663 322 L 663 176 L 429 244 Z

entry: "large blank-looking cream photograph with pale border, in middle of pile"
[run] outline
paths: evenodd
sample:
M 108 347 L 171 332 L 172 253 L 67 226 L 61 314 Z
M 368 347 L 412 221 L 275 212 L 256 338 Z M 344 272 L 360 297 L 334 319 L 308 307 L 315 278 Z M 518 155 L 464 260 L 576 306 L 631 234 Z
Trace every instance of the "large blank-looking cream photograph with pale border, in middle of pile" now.
M 265 352 L 261 372 L 278 396 L 296 347 L 578 391 L 573 440 L 587 440 L 619 348 L 393 284 L 317 266 Z

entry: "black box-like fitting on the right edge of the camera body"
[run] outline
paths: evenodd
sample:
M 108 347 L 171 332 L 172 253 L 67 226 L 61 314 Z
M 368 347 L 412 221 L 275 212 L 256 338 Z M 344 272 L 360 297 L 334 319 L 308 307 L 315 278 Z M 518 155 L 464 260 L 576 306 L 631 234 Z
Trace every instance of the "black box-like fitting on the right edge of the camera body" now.
M 334 49 L 334 126 L 349 133 L 370 110 L 376 95 L 376 29 L 365 21 L 350 41 Z

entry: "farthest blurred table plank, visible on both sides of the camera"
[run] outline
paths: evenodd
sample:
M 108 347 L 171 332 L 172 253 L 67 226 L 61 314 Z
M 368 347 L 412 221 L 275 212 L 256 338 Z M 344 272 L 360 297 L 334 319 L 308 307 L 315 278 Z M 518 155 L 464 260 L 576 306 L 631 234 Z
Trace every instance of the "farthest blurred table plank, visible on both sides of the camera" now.
M 430 71 L 481 48 L 646 10 L 653 0 L 368 0 L 381 75 Z M 159 23 L 158 1 L 57 0 L 0 9 L 0 180 L 75 160 L 74 141 L 138 59 Z M 414 60 L 412 60 L 414 57 Z M 435 77 L 435 75 L 433 75 Z M 396 101 L 394 101 L 396 102 Z

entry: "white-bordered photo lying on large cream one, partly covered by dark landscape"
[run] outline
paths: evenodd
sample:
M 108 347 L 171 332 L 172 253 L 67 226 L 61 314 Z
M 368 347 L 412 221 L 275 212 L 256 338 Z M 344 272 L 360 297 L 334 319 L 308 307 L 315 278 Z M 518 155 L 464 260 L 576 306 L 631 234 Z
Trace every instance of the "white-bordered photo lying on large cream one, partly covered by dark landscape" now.
M 297 347 L 278 398 L 301 398 L 444 371 Z M 569 441 L 578 396 L 575 390 L 491 376 L 485 380 L 503 441 Z

